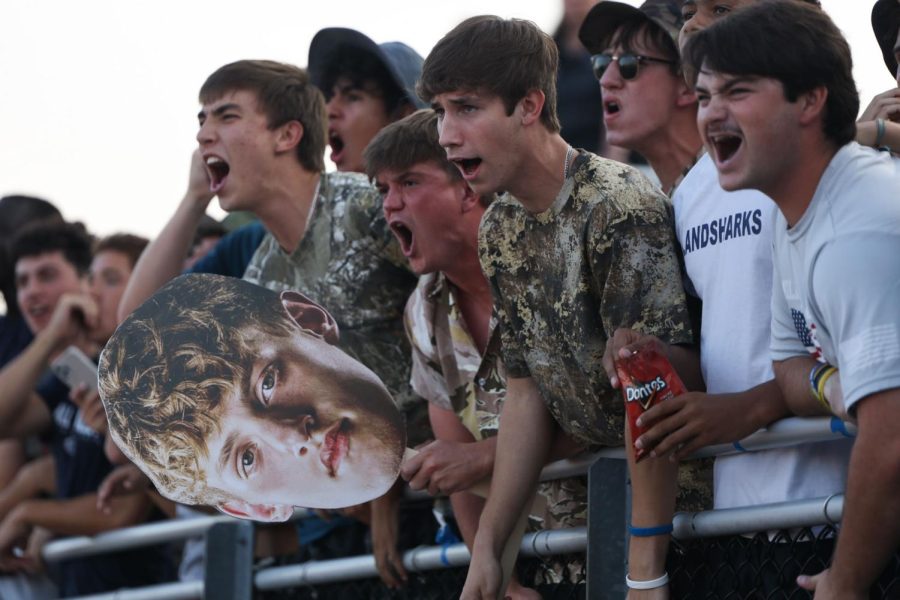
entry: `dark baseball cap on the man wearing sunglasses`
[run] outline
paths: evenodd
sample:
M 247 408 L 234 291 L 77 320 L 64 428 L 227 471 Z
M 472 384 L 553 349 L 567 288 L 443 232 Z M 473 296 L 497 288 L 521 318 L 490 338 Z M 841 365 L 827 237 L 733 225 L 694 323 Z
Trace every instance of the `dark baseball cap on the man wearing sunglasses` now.
M 622 2 L 603 1 L 588 12 L 578 30 L 578 39 L 591 54 L 609 48 L 612 36 L 626 21 L 641 19 L 656 24 L 668 33 L 678 47 L 678 33 L 684 24 L 681 3 L 677 0 L 647 0 L 640 8 Z

